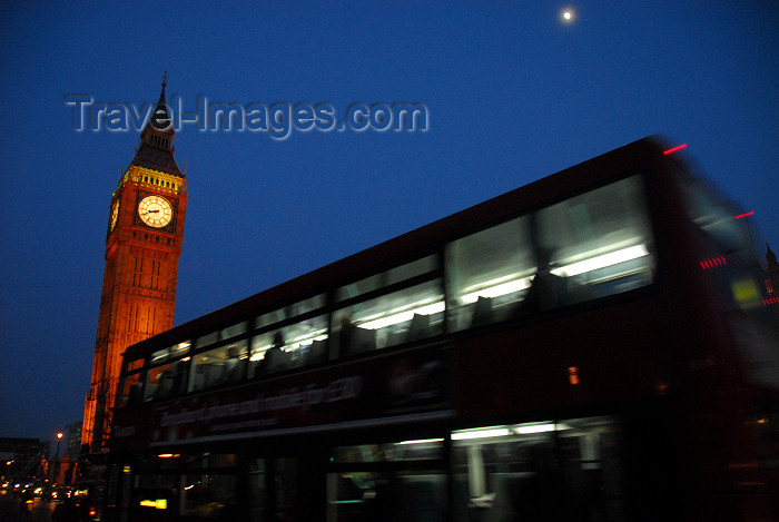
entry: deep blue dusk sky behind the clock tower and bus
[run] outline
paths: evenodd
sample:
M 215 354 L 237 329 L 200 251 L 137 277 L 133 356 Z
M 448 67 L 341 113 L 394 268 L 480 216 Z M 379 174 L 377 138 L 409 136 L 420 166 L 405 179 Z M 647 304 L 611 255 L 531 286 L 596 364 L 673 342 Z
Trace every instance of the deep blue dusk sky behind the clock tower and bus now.
M 426 131 L 176 135 L 176 324 L 652 134 L 779 252 L 775 1 L 3 2 L 0 436 L 51 439 L 89 387 L 109 203 L 139 132 L 68 96 L 417 102 Z M 402 3 L 402 2 L 397 2 Z

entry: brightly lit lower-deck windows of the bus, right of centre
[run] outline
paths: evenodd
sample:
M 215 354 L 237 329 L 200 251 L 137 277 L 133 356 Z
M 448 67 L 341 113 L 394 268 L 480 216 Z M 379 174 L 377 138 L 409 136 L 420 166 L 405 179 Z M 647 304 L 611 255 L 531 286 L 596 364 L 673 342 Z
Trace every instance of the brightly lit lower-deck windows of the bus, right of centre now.
M 444 521 L 450 496 L 454 521 L 624 520 L 614 418 L 492 425 L 450 436 L 451 485 L 444 439 L 333 449 L 328 522 Z

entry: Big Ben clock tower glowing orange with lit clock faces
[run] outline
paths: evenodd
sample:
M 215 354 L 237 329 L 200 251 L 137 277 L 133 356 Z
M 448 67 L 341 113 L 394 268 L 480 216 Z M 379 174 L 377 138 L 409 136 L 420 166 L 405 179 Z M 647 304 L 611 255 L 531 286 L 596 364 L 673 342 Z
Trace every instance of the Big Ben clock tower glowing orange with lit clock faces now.
M 174 326 L 187 180 L 174 158 L 174 126 L 165 104 L 167 75 L 135 158 L 111 196 L 106 272 L 92 378 L 83 414 L 85 453 L 107 450 L 121 354 Z

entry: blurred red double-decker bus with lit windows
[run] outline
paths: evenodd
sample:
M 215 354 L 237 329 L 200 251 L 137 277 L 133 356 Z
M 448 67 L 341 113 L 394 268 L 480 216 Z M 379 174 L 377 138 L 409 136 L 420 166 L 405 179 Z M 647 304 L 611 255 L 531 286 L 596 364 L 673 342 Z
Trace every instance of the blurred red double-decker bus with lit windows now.
M 128 348 L 109 520 L 773 520 L 740 214 L 642 139 Z

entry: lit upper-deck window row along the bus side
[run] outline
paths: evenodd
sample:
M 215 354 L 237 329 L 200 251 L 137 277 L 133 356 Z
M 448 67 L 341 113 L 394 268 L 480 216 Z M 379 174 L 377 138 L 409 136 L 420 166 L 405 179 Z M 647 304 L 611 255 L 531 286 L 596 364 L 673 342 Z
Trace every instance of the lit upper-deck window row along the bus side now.
M 633 175 L 372 274 L 128 360 L 117 405 L 165 400 L 538 314 L 650 285 Z M 142 392 L 141 392 L 142 388 Z

